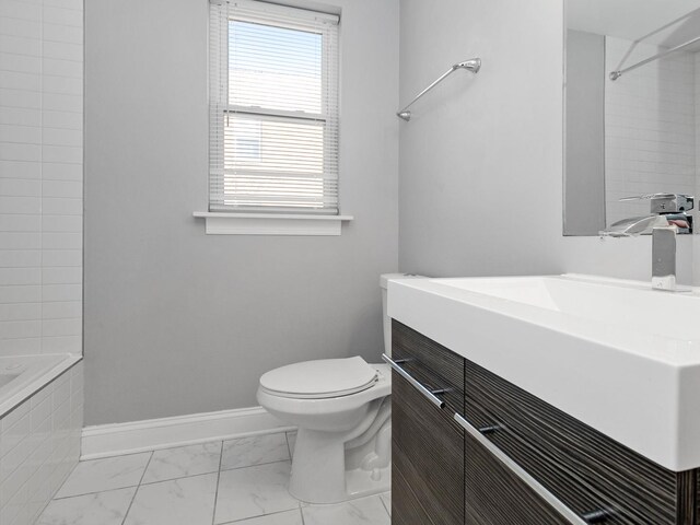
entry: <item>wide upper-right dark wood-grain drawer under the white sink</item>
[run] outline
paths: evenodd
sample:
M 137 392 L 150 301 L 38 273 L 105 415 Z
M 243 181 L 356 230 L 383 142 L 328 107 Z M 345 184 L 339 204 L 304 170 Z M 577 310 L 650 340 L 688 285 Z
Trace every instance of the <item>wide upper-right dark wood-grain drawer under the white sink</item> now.
M 469 361 L 465 419 L 584 522 L 691 523 L 676 505 L 682 474 Z

